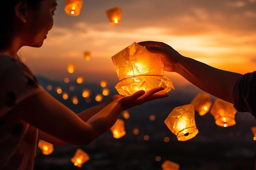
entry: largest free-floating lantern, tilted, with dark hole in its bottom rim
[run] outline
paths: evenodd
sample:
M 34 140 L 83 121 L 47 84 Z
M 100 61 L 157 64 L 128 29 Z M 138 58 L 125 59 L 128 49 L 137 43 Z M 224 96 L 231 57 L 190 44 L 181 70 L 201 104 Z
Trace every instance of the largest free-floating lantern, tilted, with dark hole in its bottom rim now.
M 178 141 L 189 140 L 198 134 L 195 125 L 195 110 L 192 104 L 174 108 L 164 123 L 177 136 Z

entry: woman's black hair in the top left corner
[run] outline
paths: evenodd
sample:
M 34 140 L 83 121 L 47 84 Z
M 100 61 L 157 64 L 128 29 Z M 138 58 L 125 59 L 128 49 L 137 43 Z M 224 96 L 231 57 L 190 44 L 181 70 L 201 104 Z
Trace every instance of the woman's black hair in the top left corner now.
M 14 7 L 19 2 L 27 2 L 31 9 L 38 9 L 42 0 L 3 0 L 1 3 L 2 9 L 0 10 L 0 51 L 5 50 L 11 44 L 14 31 Z

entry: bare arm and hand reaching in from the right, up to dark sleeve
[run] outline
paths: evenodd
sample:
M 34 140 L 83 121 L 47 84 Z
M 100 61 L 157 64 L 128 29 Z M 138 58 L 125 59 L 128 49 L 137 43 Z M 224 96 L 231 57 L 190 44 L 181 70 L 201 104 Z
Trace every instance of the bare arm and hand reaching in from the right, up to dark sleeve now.
M 146 41 L 138 44 L 146 46 L 150 53 L 159 55 L 164 61 L 166 71 L 175 71 L 203 91 L 234 104 L 233 89 L 241 74 L 220 70 L 184 57 L 163 42 Z

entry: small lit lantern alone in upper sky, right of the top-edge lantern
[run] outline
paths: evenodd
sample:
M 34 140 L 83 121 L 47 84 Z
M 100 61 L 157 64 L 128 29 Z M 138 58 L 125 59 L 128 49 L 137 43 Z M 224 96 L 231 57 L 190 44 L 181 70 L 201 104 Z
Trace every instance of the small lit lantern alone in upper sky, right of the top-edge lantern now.
M 112 8 L 106 11 L 106 14 L 109 18 L 110 25 L 119 25 L 121 24 L 121 14 L 122 10 L 120 8 Z

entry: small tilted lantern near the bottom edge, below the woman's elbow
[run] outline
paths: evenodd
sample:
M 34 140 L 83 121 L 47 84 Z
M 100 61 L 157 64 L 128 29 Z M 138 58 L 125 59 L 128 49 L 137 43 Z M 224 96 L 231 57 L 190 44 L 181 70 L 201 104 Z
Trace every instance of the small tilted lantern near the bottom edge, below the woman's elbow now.
M 90 160 L 89 155 L 79 148 L 76 150 L 74 156 L 71 158 L 71 162 L 79 168 L 81 168 L 82 165 L 88 160 Z

